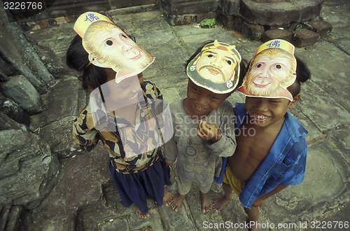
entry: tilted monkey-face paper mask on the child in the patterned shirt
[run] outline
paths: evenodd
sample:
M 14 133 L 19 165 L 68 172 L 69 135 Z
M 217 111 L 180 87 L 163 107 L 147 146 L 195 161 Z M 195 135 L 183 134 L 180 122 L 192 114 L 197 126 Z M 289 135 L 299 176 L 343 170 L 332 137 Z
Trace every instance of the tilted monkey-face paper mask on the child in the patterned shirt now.
M 141 73 L 154 62 L 153 55 L 140 48 L 106 16 L 86 12 L 73 27 L 95 66 L 116 71 L 116 82 Z

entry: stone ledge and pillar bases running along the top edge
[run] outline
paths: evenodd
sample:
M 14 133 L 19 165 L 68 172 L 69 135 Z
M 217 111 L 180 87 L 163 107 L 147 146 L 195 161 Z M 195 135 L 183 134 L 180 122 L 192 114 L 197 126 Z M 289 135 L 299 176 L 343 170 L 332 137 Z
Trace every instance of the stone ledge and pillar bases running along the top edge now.
M 326 36 L 332 26 L 319 18 L 324 0 L 50 0 L 45 10 L 27 18 L 13 12 L 22 29 L 44 29 L 73 22 L 85 11 L 140 8 L 160 10 L 169 25 L 189 25 L 204 19 L 233 29 L 247 38 L 282 38 L 304 47 Z M 151 7 L 150 7 L 151 6 Z M 299 29 L 302 29 L 298 31 Z M 321 31 L 321 34 L 320 34 Z

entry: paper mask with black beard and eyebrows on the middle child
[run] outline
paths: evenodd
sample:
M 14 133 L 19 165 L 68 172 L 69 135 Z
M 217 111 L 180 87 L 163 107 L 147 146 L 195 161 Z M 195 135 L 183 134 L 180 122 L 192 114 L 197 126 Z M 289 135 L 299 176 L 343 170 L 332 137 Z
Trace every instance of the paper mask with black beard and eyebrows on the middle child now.
M 214 41 L 202 48 L 190 61 L 186 71 L 196 85 L 225 94 L 235 90 L 238 84 L 240 62 L 241 55 L 235 45 Z

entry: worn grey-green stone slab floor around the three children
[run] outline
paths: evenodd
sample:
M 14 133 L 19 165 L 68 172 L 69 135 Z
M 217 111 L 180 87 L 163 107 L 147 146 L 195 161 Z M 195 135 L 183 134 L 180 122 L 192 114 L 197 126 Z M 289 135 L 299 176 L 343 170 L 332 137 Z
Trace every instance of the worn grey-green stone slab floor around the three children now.
M 265 202 L 261 209 L 262 230 L 314 230 L 311 225 L 318 224 L 316 221 L 329 222 L 334 230 L 345 230 L 344 226 L 339 227 L 340 222 L 349 225 L 349 13 L 347 0 L 325 0 L 321 16 L 332 24 L 332 32 L 314 45 L 295 50 L 312 73 L 311 80 L 302 85 L 301 102 L 292 111 L 309 131 L 307 172 L 302 184 L 289 187 Z M 107 14 L 155 56 L 144 77 L 158 85 L 170 103 L 186 97 L 184 64 L 203 41 L 217 39 L 235 44 L 246 60 L 253 57 L 260 45 L 220 26 L 172 27 L 158 11 L 122 15 L 111 10 Z M 73 23 L 27 31 L 27 36 L 62 58 L 74 35 Z M 244 97 L 235 92 L 229 100 L 234 104 L 243 102 Z M 62 76 L 45 96 L 45 104 L 55 107 L 46 107 L 41 115 L 32 118 L 32 130 L 40 127 L 36 131 L 48 141 L 52 152 L 66 158 L 60 159 L 62 169 L 57 186 L 31 213 L 34 222 L 29 230 L 244 230 L 239 225 L 244 224 L 246 216 L 237 199 L 221 213 L 202 214 L 197 187 L 177 213 L 148 202 L 151 218 L 146 220 L 134 214 L 133 207 L 118 204 L 102 145 L 91 153 L 83 153 L 77 150 L 70 136 L 71 121 L 85 103 L 86 93 L 81 90 L 76 75 Z M 52 131 L 55 134 L 48 135 Z M 172 181 L 169 190 L 175 194 L 174 171 Z M 211 197 L 216 199 L 221 195 L 220 187 L 214 186 Z

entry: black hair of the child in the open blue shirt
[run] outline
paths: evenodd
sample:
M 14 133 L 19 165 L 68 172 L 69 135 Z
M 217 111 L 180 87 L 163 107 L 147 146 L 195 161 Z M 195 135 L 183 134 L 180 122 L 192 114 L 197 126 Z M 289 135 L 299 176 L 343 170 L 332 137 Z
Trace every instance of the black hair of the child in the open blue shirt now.
M 297 56 L 295 56 L 295 59 L 297 60 L 297 78 L 292 85 L 287 87 L 288 91 L 293 95 L 293 97 L 300 93 L 301 83 L 304 83 L 311 78 L 311 72 L 307 67 L 307 64 L 305 64 L 302 59 Z

